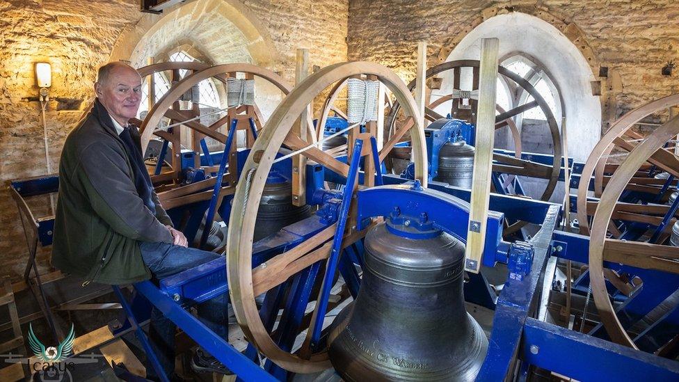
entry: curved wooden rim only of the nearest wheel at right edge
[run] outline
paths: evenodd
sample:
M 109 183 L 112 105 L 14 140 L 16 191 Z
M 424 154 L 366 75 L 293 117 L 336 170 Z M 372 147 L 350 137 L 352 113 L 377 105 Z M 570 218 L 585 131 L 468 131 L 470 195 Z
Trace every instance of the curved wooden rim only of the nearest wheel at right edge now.
M 655 129 L 646 139 L 637 145 L 627 159 L 611 177 L 603 191 L 598 208 L 594 213 L 592 231 L 589 238 L 589 274 L 594 303 L 601 320 L 614 342 L 637 349 L 630 336 L 623 329 L 608 297 L 603 275 L 603 253 L 608 223 L 614 207 L 625 186 L 630 182 L 637 169 L 662 145 L 679 133 L 679 117 L 673 118 Z

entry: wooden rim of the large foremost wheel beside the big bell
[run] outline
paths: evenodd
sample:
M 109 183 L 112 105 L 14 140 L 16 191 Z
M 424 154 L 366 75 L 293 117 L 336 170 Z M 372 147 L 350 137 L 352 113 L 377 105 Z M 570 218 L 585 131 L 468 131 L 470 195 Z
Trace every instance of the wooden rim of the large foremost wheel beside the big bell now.
M 318 372 L 330 367 L 327 353 L 317 353 L 304 360 L 291 353 L 282 351 L 273 342 L 259 319 L 255 305 L 252 280 L 253 227 L 262 197 L 262 190 L 269 175 L 278 148 L 282 145 L 293 123 L 303 109 L 330 84 L 357 74 L 374 74 L 379 77 L 397 100 L 404 104 L 406 114 L 413 117 L 414 128 L 410 129 L 413 140 L 415 174 L 426 186 L 426 148 L 422 117 L 417 114 L 417 106 L 405 83 L 383 65 L 365 62 L 337 63 L 324 67 L 298 84 L 285 100 L 275 109 L 266 122 L 262 134 L 255 141 L 246 164 L 243 167 L 243 180 L 239 181 L 234 195 L 227 239 L 227 280 L 231 303 L 236 317 L 248 339 L 255 344 L 274 363 L 291 372 Z

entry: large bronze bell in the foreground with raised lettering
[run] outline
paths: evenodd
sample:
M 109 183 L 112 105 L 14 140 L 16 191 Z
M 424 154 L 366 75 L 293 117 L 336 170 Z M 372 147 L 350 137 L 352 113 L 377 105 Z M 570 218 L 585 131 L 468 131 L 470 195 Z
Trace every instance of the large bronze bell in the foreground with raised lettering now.
M 330 361 L 345 381 L 471 381 L 488 340 L 465 310 L 465 246 L 404 223 L 365 237 L 360 291 L 333 323 Z

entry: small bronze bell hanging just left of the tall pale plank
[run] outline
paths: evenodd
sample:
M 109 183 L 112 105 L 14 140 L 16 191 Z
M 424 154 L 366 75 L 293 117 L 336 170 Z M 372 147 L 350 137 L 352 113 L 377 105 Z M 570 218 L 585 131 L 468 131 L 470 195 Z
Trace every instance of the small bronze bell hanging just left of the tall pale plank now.
M 446 143 L 438 154 L 438 176 L 434 180 L 463 189 L 472 188 L 474 148 L 465 141 Z

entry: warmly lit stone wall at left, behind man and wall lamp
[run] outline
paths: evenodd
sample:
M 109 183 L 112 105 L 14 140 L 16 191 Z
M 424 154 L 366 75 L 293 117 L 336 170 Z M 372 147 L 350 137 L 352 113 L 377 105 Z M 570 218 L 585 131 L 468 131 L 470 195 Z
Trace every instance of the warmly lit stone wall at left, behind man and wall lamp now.
M 243 8 L 255 19 L 250 21 L 262 27 L 277 51 L 273 52 L 278 60 L 272 69 L 280 70 L 289 81 L 294 77 L 298 47 L 310 49 L 312 65 L 322 67 L 346 60 L 348 0 L 222 1 Z M 184 4 L 191 7 L 198 2 Z M 0 276 L 17 278 L 27 253 L 17 208 L 6 183 L 46 172 L 33 65 L 41 61 L 52 65 L 46 120 L 51 168 L 56 172 L 63 140 L 92 100 L 97 67 L 111 56 L 129 59 L 130 52 L 126 57 L 120 55 L 125 49 L 115 54 L 114 49 L 124 46 L 131 32 L 141 31 L 143 35 L 143 27 L 152 28 L 161 18 L 141 13 L 138 6 L 138 0 L 0 1 Z M 218 23 L 213 29 L 214 35 L 221 32 Z M 201 33 L 204 40 L 210 39 L 205 28 Z M 192 41 L 177 40 L 187 42 Z M 203 53 L 215 61 L 221 56 L 218 51 Z M 36 206 L 49 205 L 45 200 L 34 202 Z M 42 252 L 44 256 L 49 248 Z M 46 262 L 41 260 L 41 264 Z

